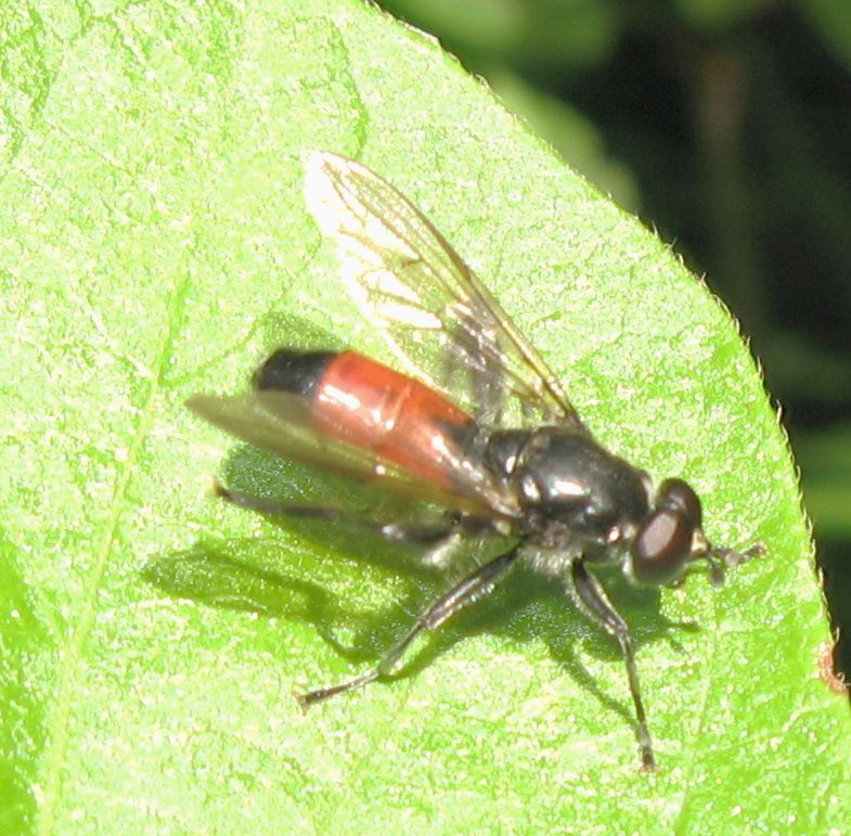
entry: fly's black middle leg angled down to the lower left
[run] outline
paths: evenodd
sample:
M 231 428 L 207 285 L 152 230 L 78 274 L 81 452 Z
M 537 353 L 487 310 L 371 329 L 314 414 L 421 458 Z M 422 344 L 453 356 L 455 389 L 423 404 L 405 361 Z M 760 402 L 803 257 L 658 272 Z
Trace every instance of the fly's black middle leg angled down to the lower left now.
M 328 699 L 330 697 L 343 694 L 346 691 L 363 687 L 370 682 L 389 673 L 414 639 L 422 632 L 440 627 L 443 621 L 467 604 L 472 604 L 482 595 L 487 595 L 491 592 L 497 581 L 504 576 L 506 570 L 517 560 L 519 546 L 514 546 L 510 552 L 486 563 L 461 581 L 454 589 L 450 590 L 446 595 L 431 604 L 431 606 L 420 616 L 408 634 L 404 635 L 404 638 L 402 638 L 402 640 L 398 642 L 372 670 L 369 670 L 366 673 L 349 680 L 348 682 L 344 682 L 340 685 L 333 685 L 332 687 L 319 689 L 307 694 L 299 694 L 297 699 L 301 704 L 301 707 L 307 708 L 308 706 L 313 705 L 313 703 L 321 703 L 323 699 Z

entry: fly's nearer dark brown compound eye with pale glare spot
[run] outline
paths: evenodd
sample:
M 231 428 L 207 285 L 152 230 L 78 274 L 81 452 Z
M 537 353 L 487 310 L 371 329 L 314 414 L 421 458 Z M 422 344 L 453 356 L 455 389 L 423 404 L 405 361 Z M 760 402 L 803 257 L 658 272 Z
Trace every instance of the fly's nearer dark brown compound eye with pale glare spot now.
M 670 507 L 654 511 L 632 543 L 635 579 L 658 586 L 675 581 L 691 557 L 694 529 L 693 522 L 682 511 Z

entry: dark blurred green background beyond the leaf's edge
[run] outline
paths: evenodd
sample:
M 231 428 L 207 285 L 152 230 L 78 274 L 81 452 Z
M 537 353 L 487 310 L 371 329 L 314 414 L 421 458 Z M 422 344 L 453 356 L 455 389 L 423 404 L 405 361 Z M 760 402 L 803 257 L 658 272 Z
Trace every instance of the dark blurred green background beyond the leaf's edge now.
M 385 0 L 742 322 L 851 628 L 851 2 Z M 851 642 L 838 668 L 851 681 Z

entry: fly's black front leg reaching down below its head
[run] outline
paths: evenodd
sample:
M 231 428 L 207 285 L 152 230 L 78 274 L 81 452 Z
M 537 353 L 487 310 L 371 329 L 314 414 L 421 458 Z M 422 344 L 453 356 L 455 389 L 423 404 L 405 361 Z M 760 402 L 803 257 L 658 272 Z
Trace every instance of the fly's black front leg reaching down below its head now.
M 609 635 L 614 635 L 620 644 L 623 654 L 623 661 L 627 665 L 627 677 L 630 683 L 630 693 L 635 706 L 635 718 L 637 720 L 639 746 L 641 747 L 642 767 L 646 770 L 656 768 L 656 760 L 653 756 L 653 741 L 647 728 L 647 716 L 644 711 L 644 703 L 641 698 L 639 687 L 639 669 L 635 666 L 635 649 L 632 644 L 629 627 L 620 614 L 615 609 L 608 600 L 605 590 L 599 581 L 589 574 L 582 560 L 573 561 L 570 565 L 570 582 L 585 615 L 602 627 Z

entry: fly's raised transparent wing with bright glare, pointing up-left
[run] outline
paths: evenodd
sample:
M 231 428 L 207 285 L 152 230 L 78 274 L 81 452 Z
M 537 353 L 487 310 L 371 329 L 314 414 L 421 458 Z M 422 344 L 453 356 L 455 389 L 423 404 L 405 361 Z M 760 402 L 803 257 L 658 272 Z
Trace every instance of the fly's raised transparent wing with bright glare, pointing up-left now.
M 584 432 L 555 375 L 489 291 L 403 195 L 360 163 L 317 152 L 305 197 L 344 279 L 407 370 L 482 424 Z

